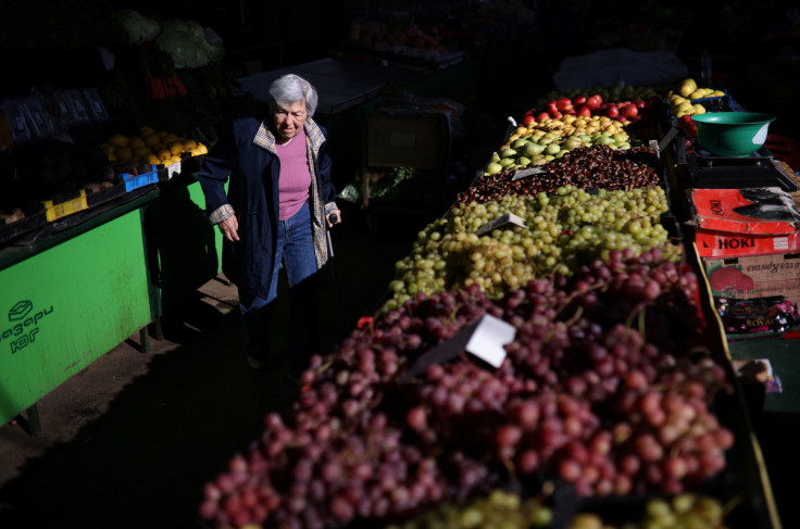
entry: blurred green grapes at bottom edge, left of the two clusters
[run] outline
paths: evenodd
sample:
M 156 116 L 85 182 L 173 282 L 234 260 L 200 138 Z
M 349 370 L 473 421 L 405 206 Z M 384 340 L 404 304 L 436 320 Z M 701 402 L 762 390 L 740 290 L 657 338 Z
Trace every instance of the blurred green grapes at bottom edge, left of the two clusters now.
M 442 503 L 386 529 L 536 529 L 550 527 L 551 521 L 549 507 L 497 489 L 466 503 Z

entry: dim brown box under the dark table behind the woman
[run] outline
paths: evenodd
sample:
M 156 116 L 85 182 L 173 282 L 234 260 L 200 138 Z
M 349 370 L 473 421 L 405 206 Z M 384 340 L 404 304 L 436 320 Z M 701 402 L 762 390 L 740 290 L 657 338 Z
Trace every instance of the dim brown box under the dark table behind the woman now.
M 371 167 L 435 169 L 450 154 L 447 116 L 441 112 L 372 112 L 366 124 L 366 164 Z

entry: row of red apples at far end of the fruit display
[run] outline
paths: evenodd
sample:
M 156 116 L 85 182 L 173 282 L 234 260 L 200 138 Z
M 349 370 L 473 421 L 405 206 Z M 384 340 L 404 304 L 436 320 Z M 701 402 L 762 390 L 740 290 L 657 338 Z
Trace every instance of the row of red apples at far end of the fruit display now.
M 566 96 L 560 99 L 550 99 L 541 109 L 532 108 L 525 112 L 523 124 L 541 122 L 547 118 L 561 119 L 565 115 L 573 116 L 605 116 L 618 122 L 635 123 L 641 119 L 648 103 L 642 99 L 633 101 L 603 101 L 602 96 L 577 95 L 573 98 Z

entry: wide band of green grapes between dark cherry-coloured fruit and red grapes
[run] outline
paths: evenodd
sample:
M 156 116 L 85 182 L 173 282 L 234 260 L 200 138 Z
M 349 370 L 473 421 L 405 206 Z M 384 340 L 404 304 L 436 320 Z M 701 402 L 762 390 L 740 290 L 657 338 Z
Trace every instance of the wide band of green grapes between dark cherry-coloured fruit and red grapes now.
M 464 203 L 426 226 L 411 253 L 396 263 L 385 310 L 417 292 L 427 294 L 477 285 L 491 298 L 553 274 L 571 276 L 582 264 L 608 260 L 612 250 L 632 256 L 660 248 L 677 261 L 679 245 L 670 241 L 660 215 L 668 211 L 662 188 L 596 193 L 564 186 L 555 193 L 507 196 L 500 201 Z M 505 224 L 478 235 L 507 214 L 522 225 Z

